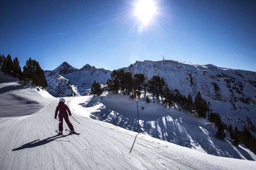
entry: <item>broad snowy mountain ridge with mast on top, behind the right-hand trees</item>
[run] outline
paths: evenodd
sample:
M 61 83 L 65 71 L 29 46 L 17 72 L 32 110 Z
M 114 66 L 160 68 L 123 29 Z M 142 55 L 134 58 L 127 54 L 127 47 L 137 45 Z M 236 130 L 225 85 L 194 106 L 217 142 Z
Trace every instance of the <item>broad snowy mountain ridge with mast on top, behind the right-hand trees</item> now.
M 256 124 L 256 72 L 168 60 L 138 61 L 123 69 L 143 73 L 148 80 L 159 75 L 185 96 L 195 97 L 200 91 L 227 125 L 242 127 L 248 123 L 246 117 Z

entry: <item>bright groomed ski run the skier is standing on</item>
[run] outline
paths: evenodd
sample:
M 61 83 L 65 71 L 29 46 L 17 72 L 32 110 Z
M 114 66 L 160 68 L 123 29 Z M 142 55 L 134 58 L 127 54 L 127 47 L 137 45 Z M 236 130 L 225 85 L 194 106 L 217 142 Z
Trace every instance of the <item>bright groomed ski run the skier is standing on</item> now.
M 2 75 L 1 75 L 2 77 Z M 0 97 L 8 100 L 7 78 L 0 82 Z M 24 88 L 26 99 L 35 100 L 38 91 Z M 22 90 L 13 89 L 16 95 Z M 41 91 L 41 90 L 40 90 Z M 39 91 L 39 92 L 40 92 Z M 65 98 L 74 119 L 74 128 L 81 135 L 58 136 L 54 131 L 58 121 L 54 111 L 58 98 L 42 95 L 44 102 L 33 114 L 16 117 L 0 117 L 0 169 L 254 169 L 255 161 L 224 158 L 181 147 L 160 139 L 152 138 L 97 121 L 90 117 L 90 109 L 77 103 L 85 98 Z M 16 104 L 22 106 L 20 99 Z M 79 101 L 80 100 L 80 101 Z M 1 110 L 2 110 L 1 100 Z M 8 100 L 10 102 L 10 100 Z M 30 105 L 28 106 L 28 109 Z M 8 106 L 15 115 L 15 108 Z M 78 114 L 79 113 L 79 114 Z M 17 112 L 18 114 L 18 112 Z M 64 123 L 64 129 L 67 128 Z

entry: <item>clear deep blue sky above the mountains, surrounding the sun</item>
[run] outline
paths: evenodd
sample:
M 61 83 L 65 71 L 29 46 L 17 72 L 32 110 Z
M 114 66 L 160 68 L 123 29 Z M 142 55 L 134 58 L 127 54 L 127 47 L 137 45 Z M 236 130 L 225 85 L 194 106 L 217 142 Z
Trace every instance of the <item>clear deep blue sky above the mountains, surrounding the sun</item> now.
M 0 54 L 43 70 L 64 61 L 114 70 L 135 60 L 186 61 L 256 71 L 256 0 L 1 0 Z

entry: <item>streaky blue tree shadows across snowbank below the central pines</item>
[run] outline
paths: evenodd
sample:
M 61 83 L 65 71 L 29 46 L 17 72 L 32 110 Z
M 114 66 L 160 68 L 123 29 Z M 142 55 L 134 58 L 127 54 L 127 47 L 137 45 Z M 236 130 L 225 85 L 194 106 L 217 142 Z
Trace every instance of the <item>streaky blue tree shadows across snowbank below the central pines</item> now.
M 125 117 L 122 113 L 112 111 L 106 106 L 91 114 L 92 119 L 138 132 L 138 118 Z M 211 127 L 205 125 L 201 127 L 191 121 L 193 119 L 182 117 L 179 111 L 173 111 L 172 114 L 166 116 L 160 115 L 153 121 L 149 121 L 146 117 L 140 117 L 140 132 L 183 147 L 204 150 L 204 152 L 215 156 L 254 160 L 246 150 L 234 147 L 229 141 L 216 139 Z

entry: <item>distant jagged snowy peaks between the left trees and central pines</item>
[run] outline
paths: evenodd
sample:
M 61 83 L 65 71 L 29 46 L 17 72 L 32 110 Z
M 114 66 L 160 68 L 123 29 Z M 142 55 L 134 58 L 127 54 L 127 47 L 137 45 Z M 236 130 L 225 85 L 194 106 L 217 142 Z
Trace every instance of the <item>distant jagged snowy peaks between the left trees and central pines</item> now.
M 94 80 L 106 84 L 111 72 L 86 64 L 76 69 L 64 62 L 53 71 L 45 71 L 48 87 L 52 96 L 63 97 L 67 94 L 84 95 L 90 91 Z

